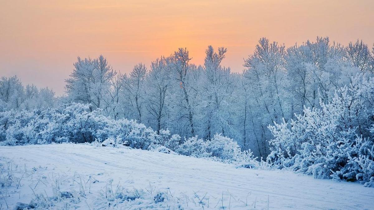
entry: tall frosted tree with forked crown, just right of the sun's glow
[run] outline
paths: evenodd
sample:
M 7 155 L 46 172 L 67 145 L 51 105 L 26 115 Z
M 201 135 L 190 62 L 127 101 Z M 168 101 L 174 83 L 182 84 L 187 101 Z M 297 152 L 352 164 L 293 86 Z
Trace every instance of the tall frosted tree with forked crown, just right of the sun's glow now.
M 233 76 L 230 68 L 221 66 L 227 49 L 218 48 L 214 52 L 212 46 L 205 50 L 206 56 L 203 67 L 203 77 L 199 82 L 201 91 L 201 120 L 205 125 L 206 139 L 211 139 L 214 133 L 234 135 L 230 113 L 233 105 Z

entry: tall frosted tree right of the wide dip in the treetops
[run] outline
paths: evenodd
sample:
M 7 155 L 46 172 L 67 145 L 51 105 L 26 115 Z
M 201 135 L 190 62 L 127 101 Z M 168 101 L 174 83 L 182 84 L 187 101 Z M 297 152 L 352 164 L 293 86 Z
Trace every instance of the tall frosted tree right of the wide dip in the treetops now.
M 249 91 L 253 94 L 251 107 L 254 108 L 252 115 L 258 116 L 258 125 L 253 128 L 255 136 L 261 135 L 261 151 L 266 154 L 266 141 L 270 138 L 270 133 L 266 129 L 272 121 L 279 121 L 284 116 L 288 116 L 286 107 L 288 96 L 286 89 L 285 70 L 285 47 L 278 43 L 270 43 L 268 39 L 261 38 L 257 44 L 253 55 L 245 60 L 244 77 L 248 84 Z M 291 106 L 292 107 L 292 106 Z M 254 127 L 254 126 L 253 126 Z

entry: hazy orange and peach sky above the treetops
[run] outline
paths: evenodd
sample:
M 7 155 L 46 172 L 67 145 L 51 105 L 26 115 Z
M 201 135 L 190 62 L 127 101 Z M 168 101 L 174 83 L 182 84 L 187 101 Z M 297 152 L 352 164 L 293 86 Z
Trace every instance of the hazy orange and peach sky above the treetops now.
M 223 65 L 243 70 L 261 37 L 286 46 L 328 36 L 373 46 L 373 0 L 0 0 L 0 76 L 64 93 L 77 57 L 103 55 L 130 72 L 187 47 L 227 47 Z

